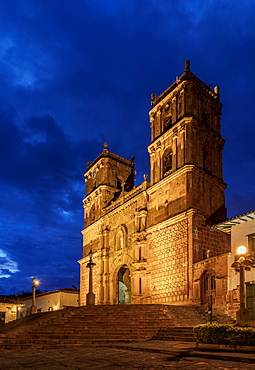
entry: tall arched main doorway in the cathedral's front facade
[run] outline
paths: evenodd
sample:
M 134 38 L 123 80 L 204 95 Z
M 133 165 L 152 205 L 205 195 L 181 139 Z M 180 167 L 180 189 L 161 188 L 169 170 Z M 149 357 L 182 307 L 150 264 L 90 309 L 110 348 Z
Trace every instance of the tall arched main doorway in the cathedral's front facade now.
M 130 270 L 127 265 L 121 266 L 117 276 L 118 304 L 131 303 L 131 280 Z

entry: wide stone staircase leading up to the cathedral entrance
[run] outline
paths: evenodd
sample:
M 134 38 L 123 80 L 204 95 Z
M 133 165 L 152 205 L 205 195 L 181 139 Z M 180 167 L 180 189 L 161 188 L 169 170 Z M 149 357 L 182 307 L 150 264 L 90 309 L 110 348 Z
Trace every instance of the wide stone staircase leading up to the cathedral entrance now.
M 158 332 L 161 336 L 171 333 L 171 338 L 179 340 L 181 330 L 184 336 L 180 327 L 185 327 L 186 338 L 191 338 L 192 327 L 203 322 L 194 306 L 130 304 L 66 308 L 5 324 L 0 330 L 0 348 L 79 347 L 103 342 L 146 341 L 159 339 Z

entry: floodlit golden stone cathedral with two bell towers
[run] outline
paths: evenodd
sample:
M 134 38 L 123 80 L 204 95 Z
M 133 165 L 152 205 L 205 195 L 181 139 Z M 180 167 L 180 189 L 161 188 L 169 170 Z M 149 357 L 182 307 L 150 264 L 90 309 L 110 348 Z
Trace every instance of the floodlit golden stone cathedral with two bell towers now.
M 217 299 L 226 289 L 224 273 L 216 281 L 200 263 L 230 251 L 229 235 L 212 229 L 226 219 L 219 87 L 203 83 L 186 61 L 151 106 L 150 178 L 135 187 L 134 160 L 107 143 L 87 163 L 81 305 L 90 251 L 96 304 L 203 304 L 206 294 L 216 291 Z

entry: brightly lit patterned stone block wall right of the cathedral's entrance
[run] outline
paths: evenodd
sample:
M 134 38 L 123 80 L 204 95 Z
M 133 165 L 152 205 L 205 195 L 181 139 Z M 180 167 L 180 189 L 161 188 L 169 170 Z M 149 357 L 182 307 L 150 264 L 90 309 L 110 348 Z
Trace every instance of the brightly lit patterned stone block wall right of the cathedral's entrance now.
M 153 303 L 183 302 L 188 298 L 187 220 L 152 231 L 149 271 Z

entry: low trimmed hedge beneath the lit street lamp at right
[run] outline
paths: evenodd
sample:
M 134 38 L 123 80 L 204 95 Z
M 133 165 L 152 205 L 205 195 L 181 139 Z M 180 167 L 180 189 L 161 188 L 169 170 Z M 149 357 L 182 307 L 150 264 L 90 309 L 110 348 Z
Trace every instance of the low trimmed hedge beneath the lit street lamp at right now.
M 198 343 L 255 346 L 255 329 L 228 324 L 202 324 L 194 327 Z

